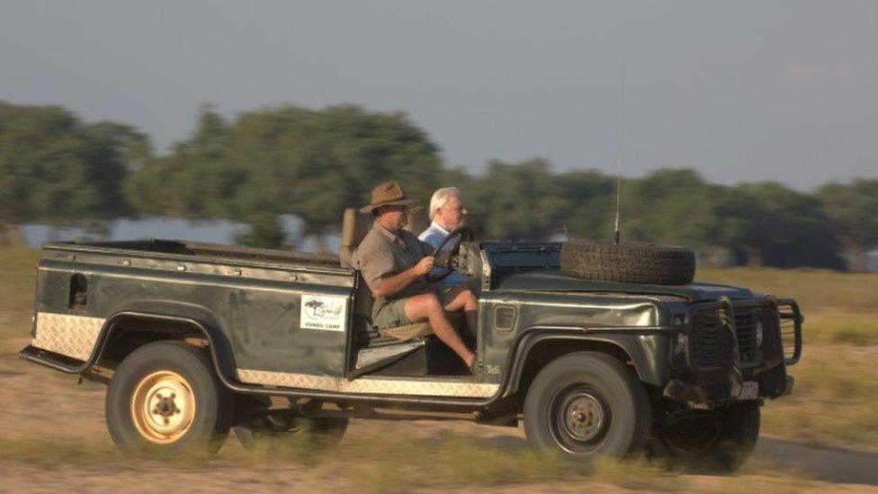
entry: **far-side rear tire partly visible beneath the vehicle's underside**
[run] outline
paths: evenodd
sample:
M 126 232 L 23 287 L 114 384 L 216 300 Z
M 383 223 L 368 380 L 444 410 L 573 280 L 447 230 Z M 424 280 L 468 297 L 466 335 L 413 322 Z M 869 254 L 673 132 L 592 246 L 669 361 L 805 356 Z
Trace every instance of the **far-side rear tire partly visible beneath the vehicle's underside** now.
M 248 451 L 260 447 L 322 451 L 334 448 L 345 436 L 349 420 L 336 417 L 256 418 L 235 426 L 235 436 Z

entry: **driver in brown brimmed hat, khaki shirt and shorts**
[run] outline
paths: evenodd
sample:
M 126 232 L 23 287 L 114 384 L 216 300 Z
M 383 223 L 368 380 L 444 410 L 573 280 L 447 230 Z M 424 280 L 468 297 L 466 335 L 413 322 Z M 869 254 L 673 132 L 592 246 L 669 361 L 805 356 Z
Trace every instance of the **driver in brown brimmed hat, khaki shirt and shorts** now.
M 372 212 L 372 229 L 354 251 L 354 265 L 372 291 L 372 323 L 378 328 L 396 328 L 429 321 L 440 340 L 449 346 L 470 371 L 476 355 L 463 343 L 445 311 L 479 310 L 476 297 L 466 287 L 445 290 L 442 296 L 426 283 L 433 269 L 432 247 L 403 229 L 414 201 L 396 182 L 372 189 L 372 202 L 360 211 Z M 475 320 L 468 317 L 467 320 Z M 475 333 L 476 328 L 469 328 Z

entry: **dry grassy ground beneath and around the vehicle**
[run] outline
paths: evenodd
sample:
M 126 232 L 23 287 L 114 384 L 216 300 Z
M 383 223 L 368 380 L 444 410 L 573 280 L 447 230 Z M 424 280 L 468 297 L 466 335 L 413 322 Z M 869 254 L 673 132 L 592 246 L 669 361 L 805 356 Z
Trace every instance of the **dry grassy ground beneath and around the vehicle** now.
M 6 275 L 0 282 L 0 492 L 878 492 L 878 276 L 703 274 L 799 297 L 808 315 L 805 355 L 791 371 L 795 394 L 767 404 L 756 454 L 743 472 L 724 476 L 643 460 L 574 469 L 533 454 L 521 427 L 461 421 L 354 420 L 340 447 L 327 454 L 282 444 L 251 453 L 229 436 L 210 460 L 123 458 L 103 423 L 103 385 L 77 385 L 74 376 L 17 358 L 29 342 L 35 256 L 0 252 Z

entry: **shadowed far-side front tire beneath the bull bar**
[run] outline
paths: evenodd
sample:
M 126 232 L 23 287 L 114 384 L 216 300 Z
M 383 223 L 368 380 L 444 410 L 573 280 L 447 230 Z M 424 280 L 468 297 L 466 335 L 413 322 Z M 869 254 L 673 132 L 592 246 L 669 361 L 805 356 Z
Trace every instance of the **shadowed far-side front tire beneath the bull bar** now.
M 759 424 L 758 402 L 738 401 L 725 409 L 658 427 L 650 450 L 675 466 L 737 472 L 756 448 Z

